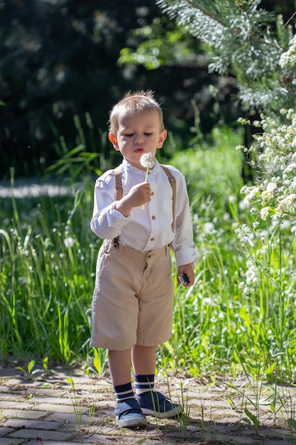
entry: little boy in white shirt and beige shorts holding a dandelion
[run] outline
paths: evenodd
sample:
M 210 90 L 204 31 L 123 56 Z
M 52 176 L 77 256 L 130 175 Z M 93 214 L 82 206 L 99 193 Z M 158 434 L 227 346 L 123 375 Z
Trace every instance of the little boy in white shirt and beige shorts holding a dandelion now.
M 172 328 L 170 249 L 178 276 L 187 275 L 185 286 L 194 284 L 197 251 L 185 178 L 172 166 L 165 172 L 155 159 L 167 132 L 153 92 L 128 93 L 111 109 L 109 124 L 109 140 L 124 160 L 98 178 L 94 188 L 91 228 L 104 242 L 97 261 L 91 344 L 109 350 L 119 426 L 139 427 L 147 424 L 146 414 L 163 419 L 182 409 L 153 390 L 155 355 Z M 143 154 L 153 159 L 148 181 Z

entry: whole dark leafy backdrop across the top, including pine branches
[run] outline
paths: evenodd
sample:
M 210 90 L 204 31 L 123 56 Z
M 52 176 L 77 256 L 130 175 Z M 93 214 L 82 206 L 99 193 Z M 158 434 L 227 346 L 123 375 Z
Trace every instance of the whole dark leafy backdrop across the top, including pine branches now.
M 270 90 L 276 93 L 278 88 L 279 95 L 283 86 L 290 89 L 289 97 L 295 96 L 291 73 L 278 73 L 273 65 L 289 36 L 288 27 L 278 26 L 275 16 L 292 26 L 294 1 L 185 1 L 182 14 L 180 5 L 154 0 L 0 0 L 0 176 L 9 178 L 11 166 L 17 177 L 42 176 L 60 157 L 57 134 L 67 150 L 77 146 L 75 119 L 85 130 L 92 122 L 85 146 L 102 153 L 109 110 L 128 90 L 155 90 L 168 129 L 184 147 L 192 139 L 197 116 L 192 101 L 200 129 L 210 134 L 215 124 L 231 125 L 241 116 L 238 92 L 242 102 L 253 105 L 268 97 L 273 108 L 278 99 Z M 273 12 L 256 12 L 260 9 Z M 198 11 L 205 14 L 200 22 Z M 224 27 L 223 41 L 214 38 L 218 23 Z M 266 30 L 270 41 L 277 33 L 278 43 L 268 43 L 258 58 L 258 50 L 264 49 L 262 33 L 269 35 Z M 209 73 L 209 64 L 217 72 Z M 257 91 L 256 79 L 261 82 Z M 167 151 L 167 158 L 171 154 Z

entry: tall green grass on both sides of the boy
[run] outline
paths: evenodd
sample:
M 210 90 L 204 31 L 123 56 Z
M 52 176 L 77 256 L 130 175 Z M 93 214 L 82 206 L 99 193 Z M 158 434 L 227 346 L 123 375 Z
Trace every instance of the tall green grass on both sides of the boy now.
M 295 240 L 288 227 L 249 229 L 241 134 L 215 129 L 213 139 L 170 160 L 187 177 L 199 263 L 192 288 L 175 279 L 173 333 L 158 348 L 158 369 L 291 382 Z M 48 357 L 103 372 L 106 354 L 89 345 L 101 244 L 89 229 L 93 186 L 86 179 L 76 195 L 1 199 L 1 362 Z

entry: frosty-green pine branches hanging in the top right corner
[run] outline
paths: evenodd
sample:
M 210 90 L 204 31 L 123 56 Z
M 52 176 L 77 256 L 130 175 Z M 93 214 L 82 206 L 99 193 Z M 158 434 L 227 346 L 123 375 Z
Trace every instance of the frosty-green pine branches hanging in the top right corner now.
M 295 104 L 294 67 L 280 64 L 290 48 L 292 28 L 284 26 L 281 16 L 258 9 L 260 3 L 157 0 L 164 13 L 212 48 L 210 72 L 234 73 L 244 107 L 276 112 Z

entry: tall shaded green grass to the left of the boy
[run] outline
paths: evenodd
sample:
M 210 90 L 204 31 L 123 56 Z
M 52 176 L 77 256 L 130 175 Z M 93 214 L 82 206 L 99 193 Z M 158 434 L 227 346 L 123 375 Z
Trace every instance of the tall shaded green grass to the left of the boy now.
M 11 200 L 1 200 L 2 360 L 49 355 L 70 364 L 87 356 L 99 246 L 84 213 L 91 200 L 79 191 L 75 197 L 15 199 L 11 209 Z

